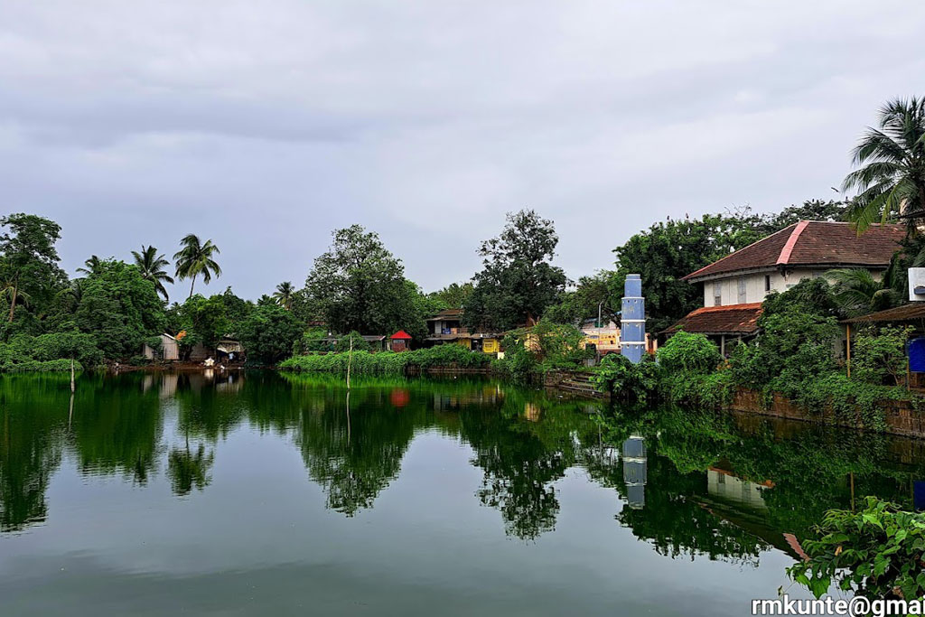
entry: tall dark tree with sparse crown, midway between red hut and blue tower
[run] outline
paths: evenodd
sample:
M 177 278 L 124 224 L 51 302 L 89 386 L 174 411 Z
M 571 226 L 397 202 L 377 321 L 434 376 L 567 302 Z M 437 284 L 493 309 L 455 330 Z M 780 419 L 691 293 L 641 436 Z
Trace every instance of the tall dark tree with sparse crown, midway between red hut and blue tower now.
M 538 319 L 557 302 L 568 278 L 550 262 L 559 237 L 551 220 L 534 210 L 508 213 L 497 238 L 483 241 L 483 269 L 464 304 L 469 327 L 509 330 Z

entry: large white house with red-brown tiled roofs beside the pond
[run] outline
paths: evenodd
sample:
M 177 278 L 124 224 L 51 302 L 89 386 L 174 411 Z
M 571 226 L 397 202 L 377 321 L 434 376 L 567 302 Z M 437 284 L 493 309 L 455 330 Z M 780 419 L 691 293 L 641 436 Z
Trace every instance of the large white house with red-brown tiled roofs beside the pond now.
M 832 268 L 866 268 L 882 277 L 906 236 L 902 225 L 873 225 L 860 237 L 848 223 L 800 221 L 730 253 L 684 279 L 703 284 L 703 308 L 664 330 L 697 332 L 720 345 L 754 336 L 761 302 Z

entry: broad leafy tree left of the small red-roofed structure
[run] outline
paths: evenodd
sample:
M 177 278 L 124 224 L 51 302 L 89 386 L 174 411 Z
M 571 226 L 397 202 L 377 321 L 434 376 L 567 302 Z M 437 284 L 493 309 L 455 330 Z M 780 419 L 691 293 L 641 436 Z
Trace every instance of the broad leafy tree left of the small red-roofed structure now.
M 311 310 L 335 332 L 421 331 L 423 318 L 413 309 L 416 299 L 404 266 L 378 234 L 353 225 L 332 235 L 330 249 L 314 260 L 305 279 L 305 303 Z

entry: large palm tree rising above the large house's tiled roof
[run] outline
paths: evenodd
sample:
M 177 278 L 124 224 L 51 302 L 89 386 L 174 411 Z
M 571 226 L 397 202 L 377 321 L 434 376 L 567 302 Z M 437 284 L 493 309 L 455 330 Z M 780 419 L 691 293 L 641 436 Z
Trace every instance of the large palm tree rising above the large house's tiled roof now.
M 925 216 L 925 98 L 883 105 L 879 128 L 864 133 L 853 157 L 863 167 L 845 177 L 842 190 L 859 191 L 848 207 L 858 234 L 891 215 Z

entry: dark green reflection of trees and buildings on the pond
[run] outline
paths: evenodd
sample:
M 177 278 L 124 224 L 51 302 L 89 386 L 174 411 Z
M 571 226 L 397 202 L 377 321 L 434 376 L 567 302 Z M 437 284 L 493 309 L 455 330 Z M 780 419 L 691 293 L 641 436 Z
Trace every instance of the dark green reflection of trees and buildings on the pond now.
M 306 482 L 332 511 L 355 516 L 401 475 L 415 437 L 471 448 L 472 499 L 510 537 L 555 529 L 559 481 L 581 473 L 612 490 L 617 524 L 662 555 L 755 564 L 794 553 L 822 512 L 878 495 L 912 505 L 922 442 L 691 410 L 606 410 L 492 381 L 367 379 L 216 371 L 0 376 L 0 530 L 48 515 L 49 481 L 72 461 L 83 475 L 174 495 L 211 490 L 217 459 L 241 428 L 285 436 Z M 246 499 L 246 496 L 242 496 Z M 412 514 L 410 514 L 412 515 Z M 789 541 L 788 541 L 789 540 Z

